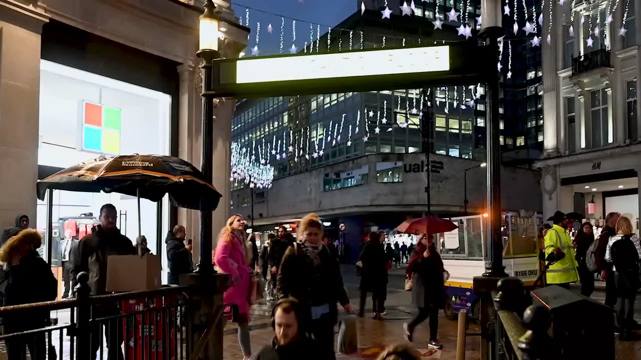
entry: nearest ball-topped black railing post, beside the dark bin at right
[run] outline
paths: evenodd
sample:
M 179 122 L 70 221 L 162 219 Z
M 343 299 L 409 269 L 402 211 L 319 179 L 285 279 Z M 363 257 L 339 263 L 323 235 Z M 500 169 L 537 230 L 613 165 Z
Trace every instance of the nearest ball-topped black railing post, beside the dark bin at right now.
M 554 345 L 549 331 L 552 317 L 547 307 L 529 306 L 523 313 L 523 326 L 528 329 L 519 339 L 519 349 L 524 360 L 549 360 L 554 354 Z

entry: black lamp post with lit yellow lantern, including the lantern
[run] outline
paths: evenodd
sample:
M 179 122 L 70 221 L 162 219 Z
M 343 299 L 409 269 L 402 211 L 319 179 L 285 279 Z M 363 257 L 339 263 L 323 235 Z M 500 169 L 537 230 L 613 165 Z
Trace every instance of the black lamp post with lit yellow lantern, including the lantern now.
M 201 172 L 204 181 L 213 181 L 213 97 L 207 94 L 213 92 L 213 61 L 221 58 L 218 51 L 218 40 L 220 37 L 216 13 L 216 6 L 212 0 L 206 0 L 203 15 L 200 17 L 199 50 L 196 56 L 203 62 L 200 68 L 203 70 L 203 156 Z M 212 266 L 212 211 L 201 210 L 200 218 L 200 244 L 199 263 L 196 270 L 199 274 L 210 274 Z

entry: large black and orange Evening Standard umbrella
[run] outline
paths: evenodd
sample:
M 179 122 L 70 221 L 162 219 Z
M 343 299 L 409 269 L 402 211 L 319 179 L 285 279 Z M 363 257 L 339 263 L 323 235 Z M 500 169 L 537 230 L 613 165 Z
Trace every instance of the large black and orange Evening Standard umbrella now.
M 44 200 L 47 189 L 122 193 L 151 201 L 160 201 L 169 194 L 176 206 L 211 211 L 222 196 L 187 161 L 138 154 L 101 157 L 56 172 L 38 181 L 38 199 Z

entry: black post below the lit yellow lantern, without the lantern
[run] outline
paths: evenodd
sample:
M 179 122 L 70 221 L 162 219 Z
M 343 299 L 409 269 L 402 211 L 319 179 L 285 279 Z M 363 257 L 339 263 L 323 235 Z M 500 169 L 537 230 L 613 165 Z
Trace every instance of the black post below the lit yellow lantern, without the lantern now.
M 213 91 L 213 60 L 220 58 L 218 51 L 201 50 L 197 56 L 203 59 L 200 68 L 203 70 L 203 158 L 201 172 L 204 181 L 213 181 L 213 98 L 207 94 Z M 199 244 L 199 274 L 211 274 L 212 266 L 212 211 L 201 210 L 200 218 L 200 244 Z

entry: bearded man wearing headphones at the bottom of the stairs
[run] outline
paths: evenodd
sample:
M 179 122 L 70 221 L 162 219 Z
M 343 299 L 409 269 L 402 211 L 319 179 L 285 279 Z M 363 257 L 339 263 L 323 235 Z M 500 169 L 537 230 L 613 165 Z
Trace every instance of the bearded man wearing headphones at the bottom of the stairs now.
M 316 343 L 308 337 L 304 311 L 294 298 L 281 299 L 272 310 L 272 345 L 264 347 L 256 360 L 320 360 Z

